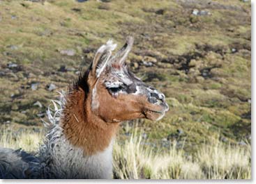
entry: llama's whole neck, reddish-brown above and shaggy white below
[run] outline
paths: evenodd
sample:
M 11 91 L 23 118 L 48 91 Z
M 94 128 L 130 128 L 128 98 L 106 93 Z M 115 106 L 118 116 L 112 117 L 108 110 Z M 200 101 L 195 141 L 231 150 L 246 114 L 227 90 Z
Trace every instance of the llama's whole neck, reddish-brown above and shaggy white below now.
M 89 100 L 89 99 L 88 99 Z M 66 97 L 59 124 L 49 127 L 40 158 L 43 178 L 111 178 L 112 145 L 118 124 L 91 115 L 82 90 Z

